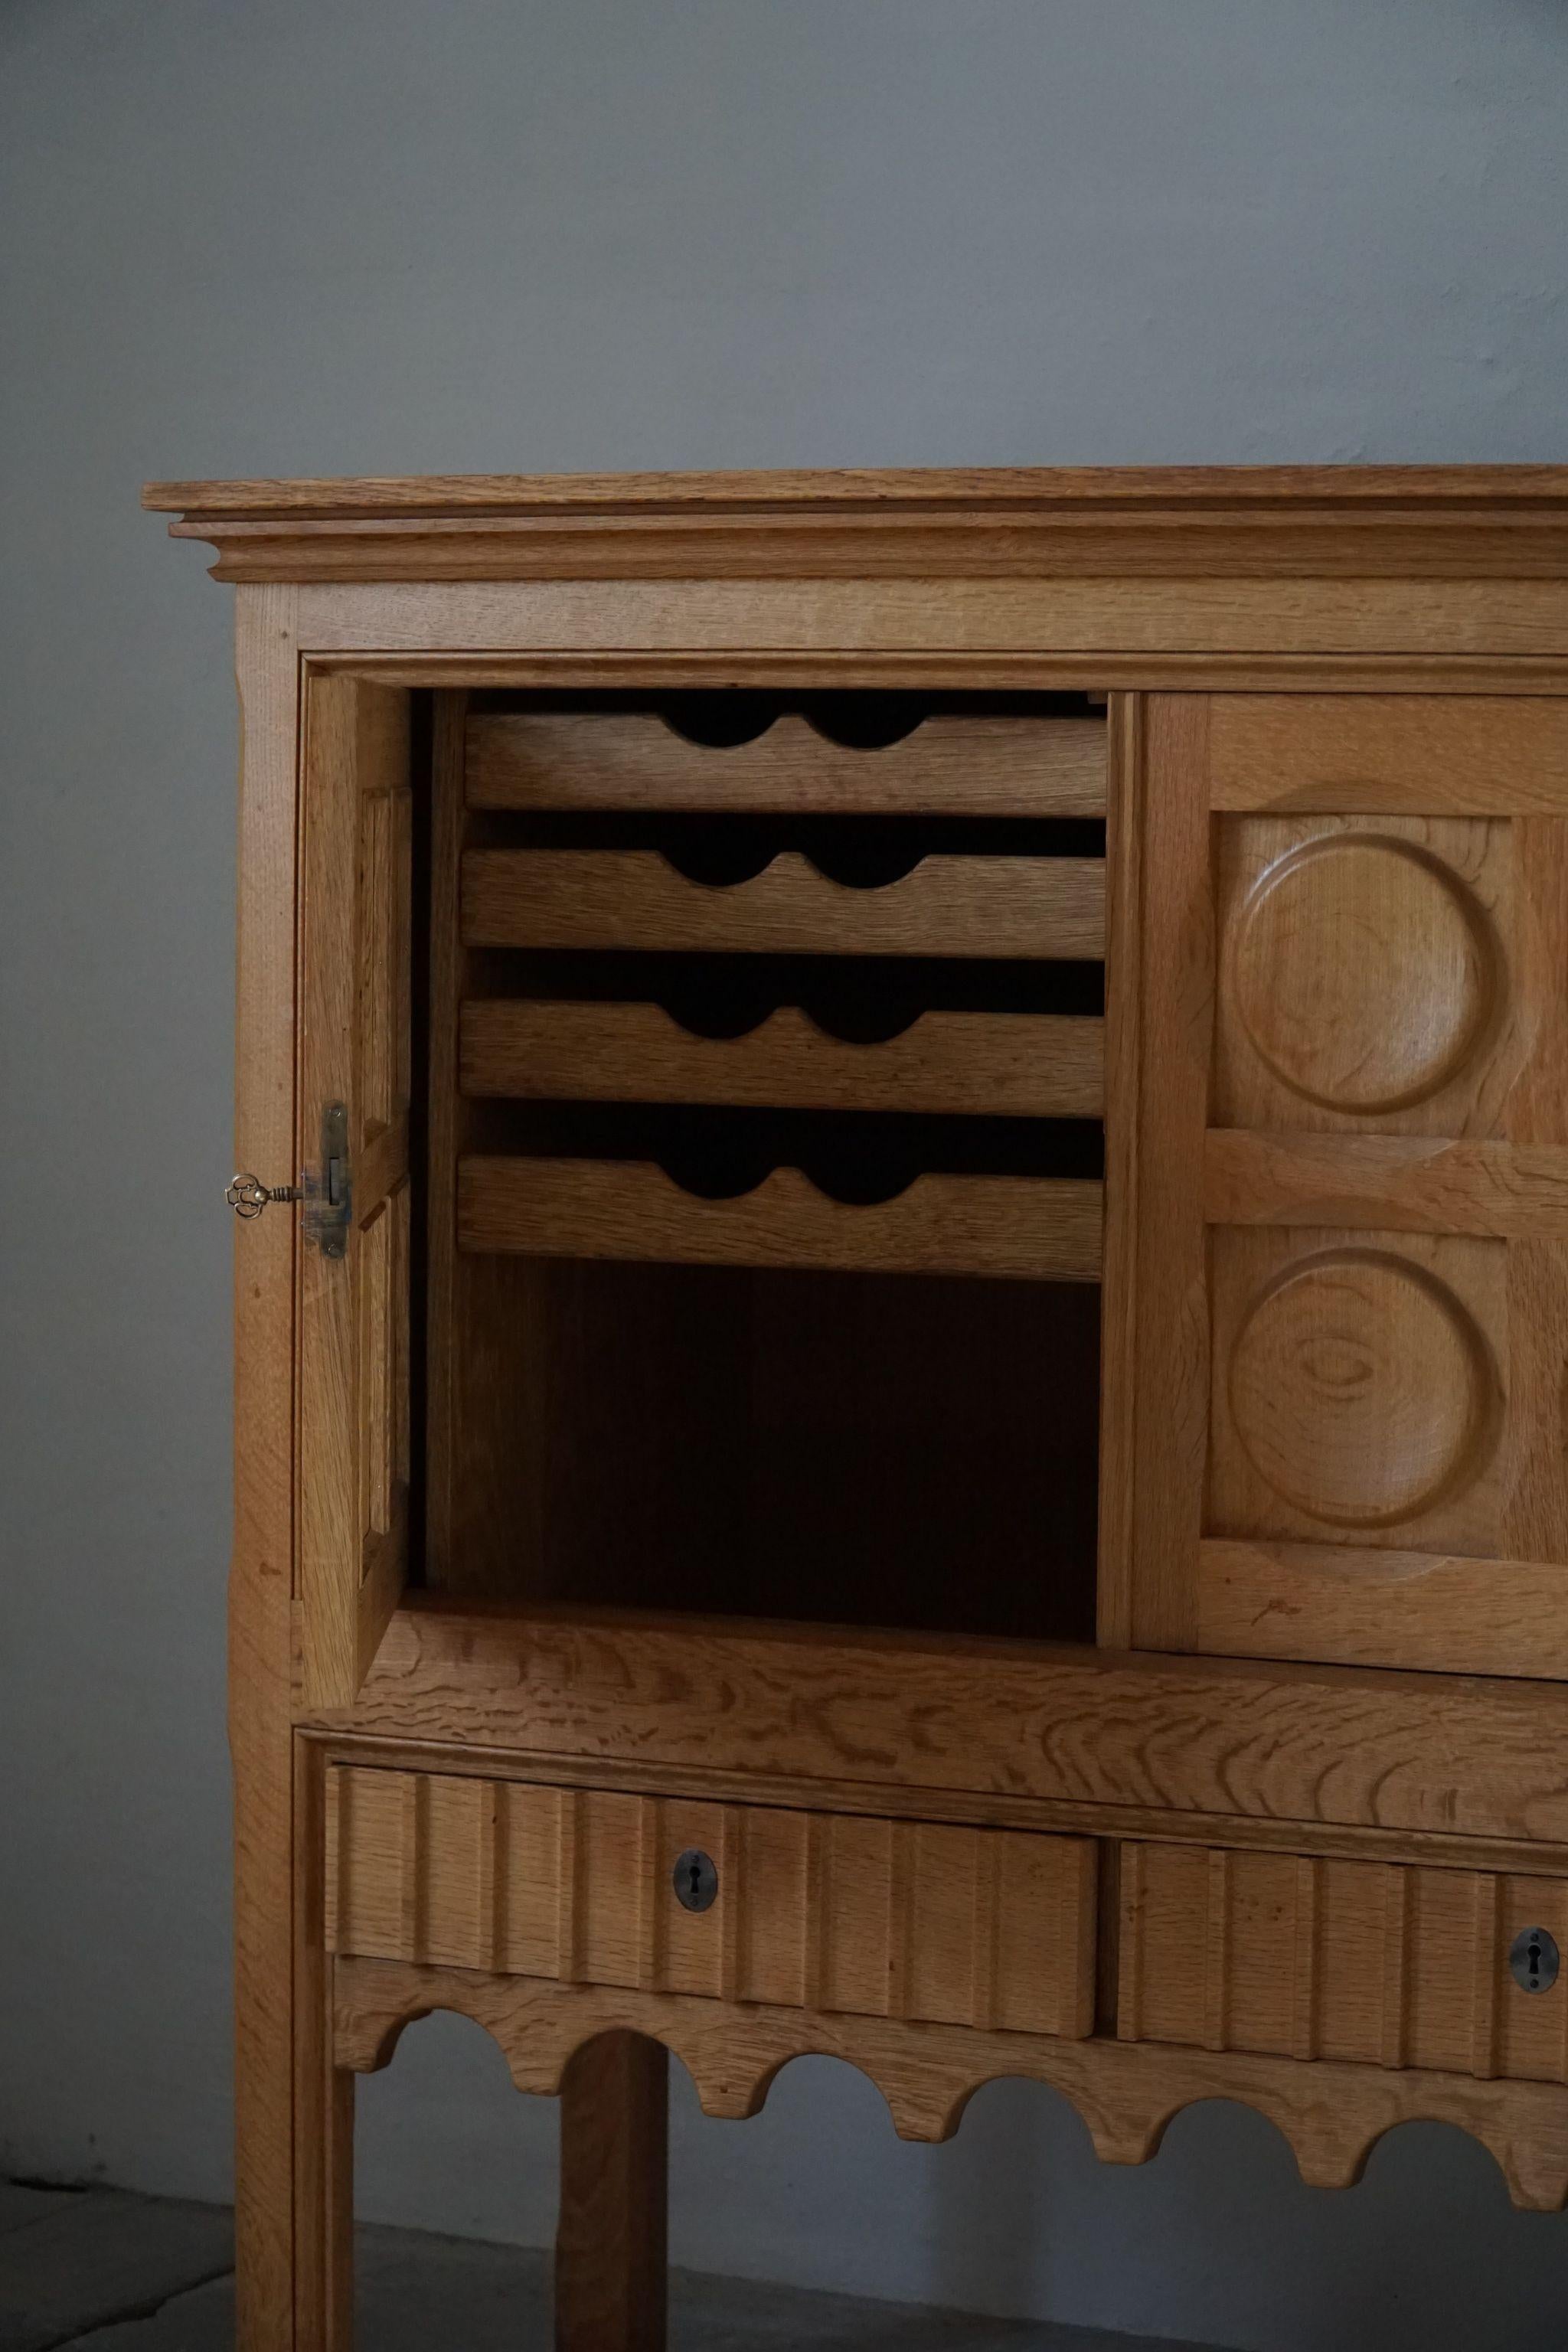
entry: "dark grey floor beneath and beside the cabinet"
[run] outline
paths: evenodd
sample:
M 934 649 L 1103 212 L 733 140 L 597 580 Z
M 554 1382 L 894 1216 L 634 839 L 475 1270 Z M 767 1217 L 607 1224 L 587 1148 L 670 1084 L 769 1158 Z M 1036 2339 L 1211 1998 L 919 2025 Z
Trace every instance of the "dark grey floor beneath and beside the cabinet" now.
M 550 2352 L 543 2253 L 360 2230 L 364 2352 Z M 230 2352 L 223 2206 L 0 2180 L 0 2352 Z M 672 2352 L 1199 2352 L 675 2272 Z

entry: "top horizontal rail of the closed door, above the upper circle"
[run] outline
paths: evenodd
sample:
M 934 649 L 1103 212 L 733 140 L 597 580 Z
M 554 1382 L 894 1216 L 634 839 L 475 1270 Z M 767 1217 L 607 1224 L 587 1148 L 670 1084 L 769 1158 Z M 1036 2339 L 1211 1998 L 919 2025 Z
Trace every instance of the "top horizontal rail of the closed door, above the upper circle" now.
M 1211 724 L 1215 809 L 1568 814 L 1568 701 L 1227 694 Z

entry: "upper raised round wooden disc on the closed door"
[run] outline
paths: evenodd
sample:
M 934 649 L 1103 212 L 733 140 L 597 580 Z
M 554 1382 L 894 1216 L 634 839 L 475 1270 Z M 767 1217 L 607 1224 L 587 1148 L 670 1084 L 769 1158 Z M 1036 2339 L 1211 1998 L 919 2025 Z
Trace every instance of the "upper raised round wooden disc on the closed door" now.
M 1415 842 L 1328 833 L 1255 882 L 1232 990 L 1274 1077 L 1324 1110 L 1403 1110 L 1446 1087 L 1497 995 L 1490 924 Z

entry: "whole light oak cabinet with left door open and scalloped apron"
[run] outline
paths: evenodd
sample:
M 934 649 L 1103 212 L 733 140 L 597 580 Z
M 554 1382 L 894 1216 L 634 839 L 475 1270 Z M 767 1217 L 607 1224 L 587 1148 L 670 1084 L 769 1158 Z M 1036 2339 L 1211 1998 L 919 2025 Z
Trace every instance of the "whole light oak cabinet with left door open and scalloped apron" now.
M 1568 475 L 148 496 L 240 604 L 242 2352 L 348 2352 L 430 2009 L 562 2093 L 569 2352 L 668 2049 L 1561 2206 Z

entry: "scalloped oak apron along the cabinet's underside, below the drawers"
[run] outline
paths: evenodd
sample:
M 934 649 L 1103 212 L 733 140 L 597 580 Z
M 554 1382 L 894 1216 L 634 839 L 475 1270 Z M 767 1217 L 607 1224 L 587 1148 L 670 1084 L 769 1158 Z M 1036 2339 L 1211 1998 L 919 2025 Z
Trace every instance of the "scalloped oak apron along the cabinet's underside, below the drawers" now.
M 435 2009 L 454 2009 L 494 2034 L 520 2091 L 555 2091 L 583 2042 L 630 2030 L 665 2042 L 686 2065 L 703 2112 L 717 2117 L 757 2114 L 778 2070 L 816 2051 L 870 2074 L 905 2140 L 950 2138 L 983 2082 L 1023 2074 L 1072 2100 L 1107 2164 L 1145 2164 L 1171 2117 L 1194 2100 L 1241 2098 L 1276 2124 L 1314 2187 L 1349 2187 L 1385 2131 L 1429 2117 L 1490 2150 L 1514 2204 L 1554 2213 L 1568 2197 L 1568 2098 L 1559 2084 L 1418 2067 L 978 2034 L 388 1959 L 336 1962 L 339 2063 L 374 2072 L 404 2025 Z

